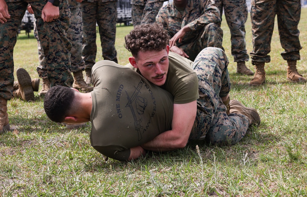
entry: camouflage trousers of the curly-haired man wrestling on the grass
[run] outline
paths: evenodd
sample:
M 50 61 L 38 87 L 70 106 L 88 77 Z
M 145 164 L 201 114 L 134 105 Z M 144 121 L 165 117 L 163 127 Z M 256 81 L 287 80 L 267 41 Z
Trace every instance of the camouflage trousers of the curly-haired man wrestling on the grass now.
M 226 114 L 221 97 L 231 89 L 228 59 L 219 48 L 208 47 L 196 57 L 193 69 L 199 84 L 197 113 L 189 139 L 217 144 L 235 144 L 245 135 L 249 121 L 242 114 Z

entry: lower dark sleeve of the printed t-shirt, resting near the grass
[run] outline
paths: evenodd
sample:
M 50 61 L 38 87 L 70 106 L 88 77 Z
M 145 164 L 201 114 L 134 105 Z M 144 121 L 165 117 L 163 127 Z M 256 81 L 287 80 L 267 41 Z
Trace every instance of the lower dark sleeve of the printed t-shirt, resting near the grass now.
M 118 161 L 127 161 L 130 157 L 130 148 L 127 149 L 120 145 L 93 146 L 93 148 L 104 156 Z

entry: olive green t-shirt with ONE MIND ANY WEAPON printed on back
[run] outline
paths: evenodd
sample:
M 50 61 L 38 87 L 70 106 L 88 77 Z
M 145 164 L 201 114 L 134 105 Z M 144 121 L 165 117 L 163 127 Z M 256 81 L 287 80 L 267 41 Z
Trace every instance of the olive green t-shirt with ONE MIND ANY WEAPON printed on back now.
M 171 129 L 173 96 L 130 68 L 99 61 L 92 81 L 91 146 L 103 155 L 127 160 L 130 148 Z

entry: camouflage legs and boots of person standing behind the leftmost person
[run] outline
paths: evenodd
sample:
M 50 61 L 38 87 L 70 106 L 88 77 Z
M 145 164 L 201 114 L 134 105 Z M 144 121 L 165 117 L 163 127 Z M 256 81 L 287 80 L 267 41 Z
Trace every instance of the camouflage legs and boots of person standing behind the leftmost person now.
M 82 27 L 80 3 L 76 2 L 75 0 L 68 0 L 68 4 L 69 4 L 69 9 L 71 11 L 71 18 L 70 18 L 70 26 L 66 31 L 66 33 L 68 40 L 72 43 L 71 72 L 73 73 L 74 76 L 74 83 L 72 87 L 79 90 L 81 89 L 84 91 L 91 91 L 93 90 L 93 88 L 85 84 L 82 74 L 82 71 L 85 69 L 85 63 L 84 60 L 82 59 L 83 27 Z M 40 62 L 40 65 L 37 66 L 36 70 L 39 77 L 43 79 L 43 88 L 41 89 L 39 95 L 45 95 L 50 88 L 50 83 L 47 78 L 47 63 L 45 60 L 43 48 L 38 38 L 37 28 L 35 23 L 34 23 L 34 37 L 37 39 L 38 60 Z

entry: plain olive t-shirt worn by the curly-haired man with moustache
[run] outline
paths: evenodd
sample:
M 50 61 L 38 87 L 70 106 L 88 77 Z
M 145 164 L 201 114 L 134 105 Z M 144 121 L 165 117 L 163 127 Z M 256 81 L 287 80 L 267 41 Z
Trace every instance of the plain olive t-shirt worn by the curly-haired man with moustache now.
M 199 98 L 198 78 L 192 65 L 191 60 L 169 51 L 169 70 L 166 81 L 159 87 L 173 95 L 174 104 L 190 103 Z M 130 63 L 126 66 L 141 74 Z

